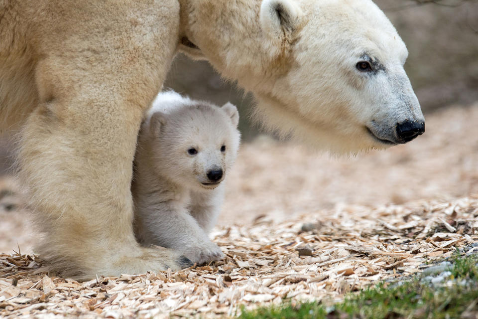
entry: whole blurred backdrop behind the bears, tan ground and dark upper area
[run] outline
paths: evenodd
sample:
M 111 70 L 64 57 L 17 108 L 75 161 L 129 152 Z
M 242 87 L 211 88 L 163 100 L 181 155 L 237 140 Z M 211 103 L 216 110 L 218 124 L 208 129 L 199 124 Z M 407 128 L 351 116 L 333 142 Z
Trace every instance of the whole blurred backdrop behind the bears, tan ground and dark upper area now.
M 330 158 L 264 135 L 248 121 L 254 101 L 204 61 L 178 55 L 165 88 L 240 113 L 243 144 L 221 224 L 269 216 L 337 212 L 354 205 L 400 205 L 478 194 L 478 1 L 376 0 L 409 50 L 405 69 L 427 124 L 415 141 L 356 158 Z M 31 249 L 17 180 L 0 142 L 0 252 Z M 114 186 L 112 186 L 114 187 Z

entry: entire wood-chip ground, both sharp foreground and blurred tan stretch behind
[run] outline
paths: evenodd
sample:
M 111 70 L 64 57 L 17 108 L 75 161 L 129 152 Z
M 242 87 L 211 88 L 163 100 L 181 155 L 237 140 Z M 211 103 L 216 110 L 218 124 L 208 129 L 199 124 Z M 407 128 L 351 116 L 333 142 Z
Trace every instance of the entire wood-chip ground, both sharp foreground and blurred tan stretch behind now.
M 445 109 L 415 141 L 356 158 L 244 144 L 212 234 L 227 258 L 176 273 L 83 283 L 49 274 L 32 254 L 17 181 L 0 177 L 0 317 L 224 318 L 284 298 L 332 304 L 457 249 L 474 253 L 477 123 L 478 104 Z

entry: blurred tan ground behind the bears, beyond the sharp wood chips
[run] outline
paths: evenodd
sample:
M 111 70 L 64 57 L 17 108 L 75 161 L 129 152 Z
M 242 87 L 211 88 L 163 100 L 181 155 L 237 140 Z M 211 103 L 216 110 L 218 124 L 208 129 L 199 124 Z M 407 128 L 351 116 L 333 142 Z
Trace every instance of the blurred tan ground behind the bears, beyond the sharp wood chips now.
M 426 133 L 386 151 L 331 158 L 292 143 L 259 137 L 244 144 L 227 177 L 220 225 L 248 225 L 258 216 L 286 221 L 344 206 L 380 207 L 478 194 L 478 103 L 426 119 Z M 0 179 L 0 252 L 31 252 L 35 237 L 17 181 Z

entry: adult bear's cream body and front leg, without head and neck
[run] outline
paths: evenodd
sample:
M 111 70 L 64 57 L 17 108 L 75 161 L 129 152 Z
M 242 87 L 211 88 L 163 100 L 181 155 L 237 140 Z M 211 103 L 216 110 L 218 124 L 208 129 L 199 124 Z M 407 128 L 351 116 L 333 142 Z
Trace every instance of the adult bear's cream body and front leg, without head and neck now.
M 80 279 L 190 265 L 139 246 L 129 186 L 176 49 L 177 1 L 3 0 L 0 12 L 1 127 L 22 127 L 19 166 L 44 233 L 35 252 Z

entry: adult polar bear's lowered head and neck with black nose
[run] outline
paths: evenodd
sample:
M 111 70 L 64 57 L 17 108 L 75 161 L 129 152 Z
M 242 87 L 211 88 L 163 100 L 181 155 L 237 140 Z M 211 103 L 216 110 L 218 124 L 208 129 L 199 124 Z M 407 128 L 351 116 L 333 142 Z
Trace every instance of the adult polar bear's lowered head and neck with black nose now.
M 339 153 L 386 148 L 424 132 L 403 69 L 406 46 L 370 0 L 181 6 L 180 48 L 252 91 L 266 127 Z

